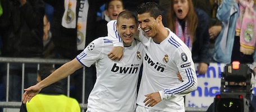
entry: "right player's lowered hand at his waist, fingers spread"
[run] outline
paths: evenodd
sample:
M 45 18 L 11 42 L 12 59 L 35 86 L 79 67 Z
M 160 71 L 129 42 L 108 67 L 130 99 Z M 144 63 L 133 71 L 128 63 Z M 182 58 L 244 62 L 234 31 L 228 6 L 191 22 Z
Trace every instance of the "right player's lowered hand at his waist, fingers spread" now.
M 145 106 L 148 105 L 148 107 L 149 106 L 152 107 L 152 106 L 156 105 L 157 103 L 159 103 L 160 101 L 162 101 L 159 92 L 153 92 L 153 93 L 147 94 L 145 96 L 147 98 L 143 101 L 143 103 L 147 102 L 147 103 L 145 103 Z

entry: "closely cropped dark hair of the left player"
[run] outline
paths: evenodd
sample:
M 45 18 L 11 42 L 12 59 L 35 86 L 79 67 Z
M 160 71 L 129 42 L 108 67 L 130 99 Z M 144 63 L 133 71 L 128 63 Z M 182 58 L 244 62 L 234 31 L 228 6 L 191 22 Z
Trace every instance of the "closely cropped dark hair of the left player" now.
M 126 10 L 126 11 L 120 12 L 120 13 L 118 14 L 118 16 L 117 16 L 117 25 L 118 25 L 118 20 L 120 19 L 120 17 L 126 18 L 126 19 L 132 18 L 132 19 L 134 19 L 134 21 L 136 22 L 136 24 L 138 24 L 137 17 L 135 16 L 134 12 L 132 12 L 132 11 Z

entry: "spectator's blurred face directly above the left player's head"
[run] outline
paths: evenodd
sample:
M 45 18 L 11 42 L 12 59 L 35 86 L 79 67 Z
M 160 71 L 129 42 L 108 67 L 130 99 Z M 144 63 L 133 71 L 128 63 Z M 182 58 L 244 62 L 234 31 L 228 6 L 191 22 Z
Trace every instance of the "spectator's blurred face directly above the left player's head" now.
M 118 14 L 122 11 L 124 11 L 122 1 L 114 0 L 109 2 L 106 14 L 110 20 L 116 20 Z

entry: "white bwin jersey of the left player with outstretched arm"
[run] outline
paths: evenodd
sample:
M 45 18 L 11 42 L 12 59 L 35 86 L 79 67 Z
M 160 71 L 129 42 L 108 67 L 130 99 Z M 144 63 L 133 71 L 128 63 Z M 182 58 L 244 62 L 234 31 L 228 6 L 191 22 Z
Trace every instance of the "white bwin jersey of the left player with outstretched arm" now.
M 120 61 L 112 61 L 107 54 L 113 43 L 107 37 L 91 42 L 76 59 L 85 66 L 96 64 L 97 80 L 88 98 L 87 111 L 135 111 L 137 82 L 143 62 L 143 45 L 134 40 L 124 47 Z

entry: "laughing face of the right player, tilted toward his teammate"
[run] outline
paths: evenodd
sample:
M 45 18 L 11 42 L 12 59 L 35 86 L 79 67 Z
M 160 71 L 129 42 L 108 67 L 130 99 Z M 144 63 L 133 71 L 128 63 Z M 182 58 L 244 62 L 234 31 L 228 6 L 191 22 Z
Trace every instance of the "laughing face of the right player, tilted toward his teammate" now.
M 138 14 L 138 21 L 140 28 L 148 37 L 155 37 L 157 35 L 158 23 L 150 13 Z

